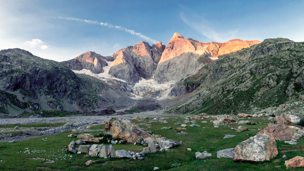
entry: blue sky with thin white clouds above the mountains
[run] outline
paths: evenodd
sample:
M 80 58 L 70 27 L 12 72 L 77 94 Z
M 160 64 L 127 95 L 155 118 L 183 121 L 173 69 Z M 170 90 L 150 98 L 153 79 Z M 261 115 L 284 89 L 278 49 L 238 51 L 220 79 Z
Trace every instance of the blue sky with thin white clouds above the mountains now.
M 63 61 L 103 56 L 175 32 L 200 42 L 283 37 L 304 41 L 304 1 L 0 0 L 0 49 Z M 115 27 L 117 26 L 117 27 Z

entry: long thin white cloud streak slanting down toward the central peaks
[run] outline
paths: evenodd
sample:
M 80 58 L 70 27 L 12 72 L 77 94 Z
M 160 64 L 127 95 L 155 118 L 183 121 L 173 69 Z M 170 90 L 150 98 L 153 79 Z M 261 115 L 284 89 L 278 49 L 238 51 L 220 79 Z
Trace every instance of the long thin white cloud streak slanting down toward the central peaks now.
M 86 22 L 88 24 L 96 24 L 96 25 L 100 25 L 100 26 L 106 26 L 106 27 L 109 27 L 109 28 L 125 31 L 125 32 L 130 33 L 130 34 L 132 34 L 134 36 L 137 36 L 139 38 L 145 39 L 146 41 L 151 42 L 151 43 L 157 43 L 158 42 L 158 41 L 156 41 L 156 40 L 154 40 L 154 39 L 152 39 L 152 38 L 150 38 L 148 36 L 143 35 L 142 33 L 136 32 L 134 30 L 127 29 L 127 28 L 122 27 L 122 26 L 113 26 L 112 24 L 106 23 L 106 22 L 98 22 L 98 21 L 93 21 L 93 20 L 78 19 L 78 18 L 72 18 L 72 17 L 53 17 L 53 18 L 55 18 L 55 19 L 74 20 L 74 21 L 78 21 L 78 22 Z

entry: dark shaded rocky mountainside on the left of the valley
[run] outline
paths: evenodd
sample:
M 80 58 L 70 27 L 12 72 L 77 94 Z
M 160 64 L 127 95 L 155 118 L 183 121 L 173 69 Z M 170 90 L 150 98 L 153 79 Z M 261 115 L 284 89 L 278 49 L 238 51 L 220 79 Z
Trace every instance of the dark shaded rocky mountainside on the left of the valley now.
M 62 63 L 21 49 L 1 50 L 0 54 L 1 113 L 88 111 L 113 106 L 105 97 L 106 84 L 78 77 Z

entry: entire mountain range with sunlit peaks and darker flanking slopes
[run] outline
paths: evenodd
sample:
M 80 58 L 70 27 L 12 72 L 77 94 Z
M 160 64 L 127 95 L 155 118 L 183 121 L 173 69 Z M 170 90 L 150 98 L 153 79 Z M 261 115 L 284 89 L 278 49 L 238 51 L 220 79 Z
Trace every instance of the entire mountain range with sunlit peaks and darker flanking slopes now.
M 178 33 L 111 56 L 88 51 L 56 62 L 0 51 L 0 113 L 123 109 L 148 99 L 167 113 L 253 113 L 303 97 L 304 43 L 289 39 L 202 43 Z

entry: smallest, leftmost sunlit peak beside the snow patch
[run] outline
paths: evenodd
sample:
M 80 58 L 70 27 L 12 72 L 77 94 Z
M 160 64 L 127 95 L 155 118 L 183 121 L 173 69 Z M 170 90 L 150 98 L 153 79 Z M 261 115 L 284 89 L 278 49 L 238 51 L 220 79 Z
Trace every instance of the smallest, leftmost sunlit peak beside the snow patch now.
M 93 74 L 103 73 L 103 67 L 108 66 L 108 63 L 102 59 L 103 56 L 88 51 L 77 56 L 74 59 L 62 61 L 61 63 L 65 66 L 71 68 L 71 70 L 82 70 L 87 69 L 90 70 Z

